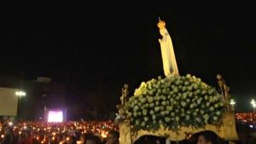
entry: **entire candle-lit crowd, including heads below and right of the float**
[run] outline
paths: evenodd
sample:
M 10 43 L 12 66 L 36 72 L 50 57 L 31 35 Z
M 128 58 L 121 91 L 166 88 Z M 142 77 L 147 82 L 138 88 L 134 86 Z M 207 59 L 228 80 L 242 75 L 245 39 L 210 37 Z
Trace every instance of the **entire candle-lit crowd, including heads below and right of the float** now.
M 256 144 L 254 129 L 244 123 L 236 124 L 239 140 L 236 144 Z M 0 144 L 119 144 L 119 127 L 113 121 L 103 122 L 20 122 L 0 123 Z M 172 143 L 172 141 L 170 141 Z M 169 142 L 169 143 L 170 143 Z M 164 137 L 145 135 L 134 144 L 166 144 Z M 227 144 L 212 131 L 201 131 L 182 144 Z

